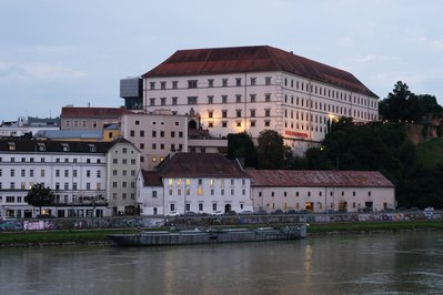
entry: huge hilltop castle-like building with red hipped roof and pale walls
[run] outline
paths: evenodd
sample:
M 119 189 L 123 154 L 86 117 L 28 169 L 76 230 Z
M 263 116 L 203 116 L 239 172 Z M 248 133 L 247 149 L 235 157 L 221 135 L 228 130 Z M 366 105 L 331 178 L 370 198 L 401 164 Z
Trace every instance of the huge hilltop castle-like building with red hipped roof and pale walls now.
M 377 96 L 353 74 L 268 45 L 179 50 L 142 75 L 143 109 L 195 111 L 214 136 L 271 129 L 294 152 L 339 116 L 377 120 Z

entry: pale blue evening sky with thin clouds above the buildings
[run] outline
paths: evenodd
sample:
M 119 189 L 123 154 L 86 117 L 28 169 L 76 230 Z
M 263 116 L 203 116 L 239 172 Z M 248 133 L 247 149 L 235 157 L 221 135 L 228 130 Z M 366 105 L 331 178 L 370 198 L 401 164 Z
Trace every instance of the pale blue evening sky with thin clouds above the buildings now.
M 0 0 L 0 122 L 120 106 L 177 50 L 271 45 L 443 105 L 441 0 Z

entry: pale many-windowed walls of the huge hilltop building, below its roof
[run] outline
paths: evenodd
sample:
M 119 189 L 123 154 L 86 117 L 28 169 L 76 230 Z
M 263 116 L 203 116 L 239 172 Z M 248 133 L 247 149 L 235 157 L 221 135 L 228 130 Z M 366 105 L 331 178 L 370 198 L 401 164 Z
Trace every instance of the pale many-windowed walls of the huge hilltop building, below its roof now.
M 377 120 L 375 95 L 286 71 L 208 75 L 153 72 L 143 78 L 144 109 L 163 108 L 184 114 L 192 108 L 202 128 L 215 138 L 246 132 L 256 139 L 261 131 L 271 129 L 296 152 L 322 141 L 331 122 L 340 116 L 352 116 L 355 122 Z

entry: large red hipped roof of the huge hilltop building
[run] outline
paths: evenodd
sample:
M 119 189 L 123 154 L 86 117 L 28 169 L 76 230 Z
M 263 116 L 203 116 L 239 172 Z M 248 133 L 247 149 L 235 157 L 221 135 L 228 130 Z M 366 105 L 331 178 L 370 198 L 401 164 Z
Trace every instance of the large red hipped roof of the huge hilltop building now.
M 143 78 L 284 71 L 376 96 L 353 74 L 269 45 L 179 50 Z

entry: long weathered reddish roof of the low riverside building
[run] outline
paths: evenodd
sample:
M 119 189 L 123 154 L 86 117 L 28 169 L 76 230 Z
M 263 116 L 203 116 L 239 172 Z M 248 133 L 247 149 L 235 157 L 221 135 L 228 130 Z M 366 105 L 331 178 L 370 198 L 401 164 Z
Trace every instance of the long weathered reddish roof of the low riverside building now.
M 394 187 L 377 171 L 248 170 L 251 186 Z

